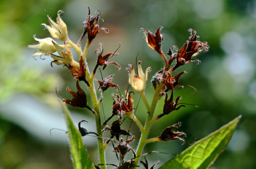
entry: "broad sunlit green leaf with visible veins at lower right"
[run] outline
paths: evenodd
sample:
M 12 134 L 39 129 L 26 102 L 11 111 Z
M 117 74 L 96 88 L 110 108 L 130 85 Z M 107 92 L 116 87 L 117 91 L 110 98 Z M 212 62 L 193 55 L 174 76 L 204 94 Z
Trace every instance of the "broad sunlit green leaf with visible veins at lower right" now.
M 210 168 L 228 145 L 241 115 L 163 164 L 164 168 Z

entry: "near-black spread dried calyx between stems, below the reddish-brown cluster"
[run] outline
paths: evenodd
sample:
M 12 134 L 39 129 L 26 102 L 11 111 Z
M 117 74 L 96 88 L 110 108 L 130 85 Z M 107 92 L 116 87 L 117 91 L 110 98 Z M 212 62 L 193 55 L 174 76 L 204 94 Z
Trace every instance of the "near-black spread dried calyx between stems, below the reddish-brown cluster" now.
M 127 131 L 125 130 L 121 130 L 120 128 L 120 121 L 117 120 L 117 121 L 114 121 L 112 123 L 112 126 L 109 127 L 109 126 L 106 126 L 106 128 L 104 130 L 102 130 L 102 132 L 104 132 L 105 130 L 110 130 L 111 132 L 111 138 L 112 137 L 116 137 L 116 140 L 119 141 L 119 136 L 120 135 L 127 135 L 127 136 L 131 136 L 131 134 L 129 134 Z

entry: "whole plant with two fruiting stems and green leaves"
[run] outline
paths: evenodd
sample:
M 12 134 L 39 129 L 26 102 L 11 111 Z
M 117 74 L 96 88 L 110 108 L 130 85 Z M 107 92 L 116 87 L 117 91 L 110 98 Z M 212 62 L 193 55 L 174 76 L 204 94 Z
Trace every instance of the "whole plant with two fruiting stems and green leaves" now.
M 185 86 L 179 83 L 179 78 L 186 72 L 180 72 L 175 76 L 173 76 L 172 73 L 180 66 L 188 64 L 190 62 L 197 61 L 198 63 L 201 63 L 201 61 L 197 59 L 192 59 L 192 57 L 197 56 L 200 52 L 207 52 L 209 50 L 207 42 L 199 41 L 197 32 L 193 29 L 189 29 L 189 40 L 185 42 L 181 50 L 179 50 L 177 46 L 173 46 L 172 48 L 170 48 L 167 52 L 169 59 L 167 59 L 166 55 L 164 55 L 164 52 L 162 51 L 163 35 L 160 34 L 162 26 L 157 29 L 155 34 L 151 34 L 148 30 L 142 29 L 146 37 L 147 45 L 149 45 L 149 47 L 151 47 L 154 51 L 157 51 L 157 53 L 160 55 L 160 57 L 162 57 L 164 61 L 164 68 L 156 72 L 151 79 L 151 83 L 154 86 L 155 90 L 153 100 L 151 101 L 151 104 L 149 104 L 149 101 L 145 96 L 145 88 L 146 84 L 149 83 L 147 81 L 148 72 L 154 68 L 148 67 L 144 72 L 141 67 L 141 61 L 138 61 L 138 67 L 136 72 L 134 66 L 129 64 L 130 68 L 127 68 L 129 70 L 129 85 L 132 86 L 133 90 L 137 92 L 137 94 L 133 91 L 128 91 L 128 89 L 125 90 L 124 96 L 120 92 L 119 94 L 112 94 L 112 99 L 114 100 L 114 103 L 111 105 L 112 113 L 110 114 L 109 118 L 107 118 L 105 122 L 102 123 L 102 112 L 99 109 L 99 106 L 101 105 L 102 100 L 105 98 L 103 97 L 103 93 L 109 87 L 114 87 L 117 91 L 119 91 L 120 88 L 117 84 L 111 82 L 114 74 L 109 75 L 109 77 L 106 77 L 105 79 L 102 79 L 102 81 L 96 79 L 94 75 L 98 73 L 98 68 L 100 66 L 103 66 L 102 69 L 105 70 L 109 64 L 114 64 L 120 69 L 121 67 L 118 63 L 115 63 L 114 61 L 108 61 L 109 59 L 111 59 L 112 56 L 118 54 L 115 51 L 113 53 L 105 54 L 103 56 L 103 45 L 101 45 L 100 49 L 96 49 L 98 59 L 92 73 L 90 73 L 88 68 L 86 57 L 89 56 L 87 56 L 86 54 L 88 52 L 89 46 L 93 42 L 93 39 L 96 37 L 96 35 L 101 30 L 104 30 L 107 33 L 109 32 L 109 29 L 99 28 L 98 20 L 101 16 L 101 12 L 99 12 L 99 14 L 97 14 L 96 16 L 93 16 L 90 15 L 89 9 L 88 17 L 83 23 L 84 32 L 81 35 L 77 44 L 75 44 L 70 40 L 70 38 L 68 38 L 67 25 L 60 18 L 61 12 L 62 11 L 58 11 L 56 23 L 51 20 L 51 18 L 47 15 L 50 26 L 46 24 L 42 25 L 44 25 L 45 28 L 49 30 L 51 37 L 63 41 L 64 44 L 58 45 L 52 38 L 37 39 L 34 36 L 34 39 L 36 39 L 36 41 L 40 43 L 38 45 L 29 45 L 28 47 L 37 50 L 33 57 L 37 55 L 51 56 L 53 58 L 51 66 L 53 66 L 53 63 L 56 65 L 66 66 L 68 69 L 70 69 L 73 78 L 76 79 L 77 92 L 71 91 L 70 88 L 67 88 L 68 92 L 70 92 L 70 94 L 73 96 L 73 99 L 60 98 L 62 100 L 62 108 L 68 126 L 68 135 L 70 138 L 70 148 L 74 167 L 106 168 L 108 164 L 105 160 L 105 150 L 110 142 L 115 142 L 114 138 L 120 141 L 119 144 L 116 145 L 113 149 L 116 157 L 119 159 L 119 164 L 111 165 L 116 166 L 120 169 L 141 167 L 138 166 L 138 162 L 140 157 L 142 155 L 145 155 L 142 154 L 142 150 L 144 146 L 148 143 L 152 143 L 155 141 L 172 140 L 180 140 L 182 141 L 182 143 L 185 143 L 186 140 L 183 137 L 186 136 L 185 132 L 173 131 L 175 128 L 179 128 L 181 126 L 181 123 L 172 124 L 170 127 L 167 127 L 164 131 L 162 131 L 162 133 L 159 133 L 158 137 L 148 139 L 147 136 L 149 134 L 150 127 L 154 122 L 160 121 L 162 117 L 170 118 L 169 114 L 172 113 L 174 110 L 179 110 L 181 107 L 185 107 L 186 104 L 179 103 L 181 96 L 178 96 L 175 99 L 175 97 L 173 96 L 173 91 L 175 91 L 176 87 Z M 84 38 L 87 39 L 87 43 L 84 50 L 82 50 L 81 42 Z M 80 56 L 79 62 L 73 60 L 73 54 L 70 50 L 71 47 L 73 47 L 76 50 L 77 55 Z M 175 52 L 175 50 L 177 52 Z M 58 52 L 58 55 L 54 54 L 54 52 L 56 51 Z M 171 67 L 173 61 L 176 61 L 176 63 L 174 64 L 174 66 Z M 97 97 L 97 91 L 96 87 L 94 86 L 94 81 L 98 81 L 99 83 L 98 91 L 99 89 L 102 90 L 100 98 Z M 89 94 L 92 97 L 93 105 L 88 104 L 86 93 L 79 84 L 81 82 L 85 82 L 86 86 L 88 87 Z M 171 92 L 171 97 L 169 99 L 167 94 L 168 92 Z M 134 96 L 140 97 L 145 104 L 146 109 L 144 112 L 141 112 L 147 114 L 145 125 L 142 125 L 135 116 L 136 108 L 134 108 L 132 98 Z M 165 97 L 162 113 L 155 115 L 156 105 L 159 99 L 161 99 L 162 97 Z M 80 123 L 83 121 L 79 123 L 79 129 L 77 130 L 77 128 L 73 124 L 71 115 L 68 112 L 67 106 L 65 104 L 69 104 L 73 107 L 78 108 L 86 108 L 90 112 L 92 112 L 96 120 L 96 131 L 88 132 L 85 128 L 81 127 Z M 129 146 L 129 143 L 133 141 L 135 137 L 134 135 L 132 136 L 132 131 L 130 132 L 130 130 L 124 130 L 124 128 L 121 129 L 121 124 L 124 121 L 124 116 L 130 118 L 131 121 L 135 122 L 140 128 L 141 136 L 137 149 L 133 149 L 131 146 Z M 109 123 L 112 118 L 115 118 L 115 121 L 112 122 L 110 127 L 107 125 L 107 123 Z M 215 131 L 211 135 L 205 137 L 204 139 L 197 141 L 184 152 L 176 155 L 176 157 L 171 159 L 171 161 L 163 164 L 161 168 L 209 168 L 218 157 L 218 155 L 223 151 L 225 146 L 227 146 L 239 118 L 240 117 L 236 118 L 235 120 L 231 121 L 230 123 Z M 107 130 L 110 131 L 110 137 L 109 139 L 107 139 L 107 141 L 103 141 L 102 133 Z M 83 145 L 83 141 L 81 140 L 81 136 L 89 134 L 97 136 L 99 153 L 98 164 L 93 164 L 90 161 L 88 154 L 86 153 L 85 146 Z M 125 135 L 127 139 L 120 138 L 120 135 Z M 132 136 L 132 138 L 128 139 L 128 136 Z M 128 152 L 133 153 L 132 159 L 125 159 L 125 154 L 127 154 Z M 149 164 L 147 163 L 146 159 L 145 162 L 140 162 L 145 168 L 149 168 Z M 159 164 L 159 162 L 155 164 Z M 151 166 L 151 168 L 153 168 L 155 164 Z

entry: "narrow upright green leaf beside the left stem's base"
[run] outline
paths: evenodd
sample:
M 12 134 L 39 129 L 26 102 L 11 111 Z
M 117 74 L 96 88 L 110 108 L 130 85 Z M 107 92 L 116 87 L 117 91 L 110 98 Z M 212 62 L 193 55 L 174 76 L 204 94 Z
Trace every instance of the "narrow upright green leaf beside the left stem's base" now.
M 92 161 L 86 152 L 85 146 L 83 144 L 82 136 L 74 125 L 70 111 L 68 110 L 66 104 L 60 101 L 62 104 L 62 109 L 65 115 L 66 123 L 68 126 L 68 136 L 70 137 L 70 151 L 72 155 L 72 161 L 75 169 L 90 169 L 94 168 Z

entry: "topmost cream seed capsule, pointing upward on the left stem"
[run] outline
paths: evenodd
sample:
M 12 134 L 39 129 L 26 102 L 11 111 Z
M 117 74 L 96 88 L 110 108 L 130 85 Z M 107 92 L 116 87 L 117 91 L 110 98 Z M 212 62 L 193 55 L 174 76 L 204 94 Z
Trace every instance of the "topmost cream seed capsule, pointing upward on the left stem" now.
M 63 20 L 60 18 L 60 12 L 58 11 L 58 17 L 56 19 L 56 23 L 47 15 L 47 18 L 49 20 L 50 26 L 46 24 L 42 24 L 47 28 L 53 38 L 60 39 L 61 41 L 65 41 L 68 37 L 67 32 L 67 25 L 63 22 Z

